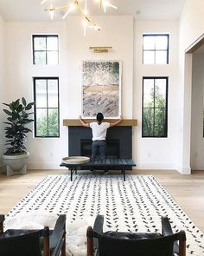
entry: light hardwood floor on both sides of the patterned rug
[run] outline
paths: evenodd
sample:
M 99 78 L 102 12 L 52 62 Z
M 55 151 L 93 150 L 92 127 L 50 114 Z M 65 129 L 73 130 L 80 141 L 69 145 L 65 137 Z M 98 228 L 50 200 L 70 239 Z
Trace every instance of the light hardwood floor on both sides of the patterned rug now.
M 8 213 L 45 175 L 66 173 L 61 169 L 29 170 L 26 175 L 10 177 L 0 174 L 0 213 Z M 204 171 L 182 175 L 176 171 L 134 170 L 131 174 L 153 174 L 204 233 Z

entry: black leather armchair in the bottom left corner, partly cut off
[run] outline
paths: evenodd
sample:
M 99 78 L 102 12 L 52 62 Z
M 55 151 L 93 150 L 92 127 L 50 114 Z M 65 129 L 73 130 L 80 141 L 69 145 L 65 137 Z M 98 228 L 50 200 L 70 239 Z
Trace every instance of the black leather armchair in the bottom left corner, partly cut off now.
M 0 255 L 65 256 L 66 215 L 56 220 L 54 230 L 8 229 L 3 232 L 4 215 L 0 215 Z

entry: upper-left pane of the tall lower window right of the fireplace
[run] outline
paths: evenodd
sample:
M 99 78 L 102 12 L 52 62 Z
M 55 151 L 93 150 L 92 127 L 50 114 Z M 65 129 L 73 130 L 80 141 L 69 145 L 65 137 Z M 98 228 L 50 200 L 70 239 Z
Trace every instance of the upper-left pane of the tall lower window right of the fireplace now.
M 154 79 L 143 80 L 143 108 L 154 107 Z

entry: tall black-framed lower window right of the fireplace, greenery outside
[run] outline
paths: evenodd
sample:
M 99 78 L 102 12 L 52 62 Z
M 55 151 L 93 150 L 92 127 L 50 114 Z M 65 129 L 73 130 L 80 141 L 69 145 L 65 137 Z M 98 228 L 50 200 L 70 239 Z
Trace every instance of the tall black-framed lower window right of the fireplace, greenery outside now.
M 143 77 L 143 137 L 167 137 L 168 77 Z

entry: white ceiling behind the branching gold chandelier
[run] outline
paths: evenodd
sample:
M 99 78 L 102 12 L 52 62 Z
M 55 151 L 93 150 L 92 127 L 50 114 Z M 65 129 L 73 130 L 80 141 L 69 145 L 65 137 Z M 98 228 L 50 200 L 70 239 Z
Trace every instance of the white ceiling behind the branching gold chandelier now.
M 48 2 L 51 0 L 48 0 Z M 73 0 L 52 0 L 55 5 L 66 5 Z M 81 3 L 85 0 L 81 0 Z M 109 8 L 105 15 L 133 15 L 137 20 L 171 20 L 179 19 L 185 0 L 109 0 L 118 6 L 118 10 Z M 40 4 L 41 0 L 0 0 L 0 14 L 5 21 L 31 22 L 50 21 L 48 13 L 43 9 L 48 3 Z M 104 15 L 96 0 L 87 0 L 90 15 Z M 54 14 L 55 21 L 61 21 L 64 10 Z M 75 12 L 79 15 L 79 12 Z

